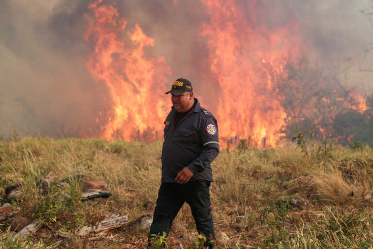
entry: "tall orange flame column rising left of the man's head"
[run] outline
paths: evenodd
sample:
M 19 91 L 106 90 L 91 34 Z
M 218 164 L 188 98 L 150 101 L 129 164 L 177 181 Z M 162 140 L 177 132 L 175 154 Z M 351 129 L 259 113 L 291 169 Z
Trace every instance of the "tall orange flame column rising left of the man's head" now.
M 97 121 L 104 124 L 104 138 L 112 139 L 118 130 L 122 139 L 131 140 L 136 132 L 162 128 L 170 104 L 157 96 L 164 94 L 165 75 L 171 71 L 165 57 L 144 55 L 144 48 L 154 46 L 154 40 L 138 24 L 128 30 L 118 10 L 101 3 L 98 0 L 88 6 L 95 17 L 86 15 L 85 39 L 94 45 L 87 68 L 97 80 L 106 83 L 113 110 L 109 118 Z

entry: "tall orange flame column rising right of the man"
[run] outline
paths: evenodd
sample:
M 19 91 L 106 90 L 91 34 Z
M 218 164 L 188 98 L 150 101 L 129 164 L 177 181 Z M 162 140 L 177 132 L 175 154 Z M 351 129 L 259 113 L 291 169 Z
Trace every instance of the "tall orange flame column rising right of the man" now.
M 235 0 L 203 0 L 210 23 L 203 24 L 201 36 L 210 50 L 209 63 L 216 75 L 221 95 L 218 118 L 220 136 L 251 137 L 275 145 L 282 137 L 286 113 L 281 103 L 271 97 L 275 82 L 266 69 L 280 74 L 285 59 L 297 58 L 300 42 L 297 26 L 269 30 L 260 27 L 253 4 L 245 15 Z

